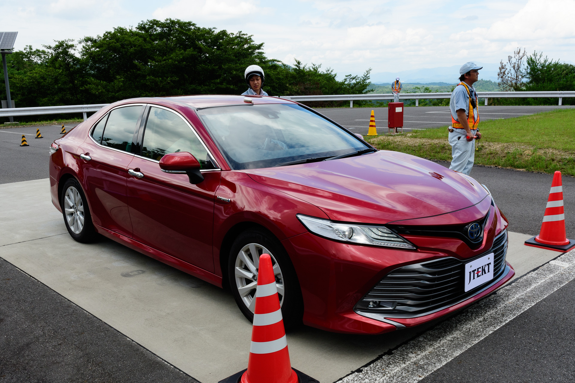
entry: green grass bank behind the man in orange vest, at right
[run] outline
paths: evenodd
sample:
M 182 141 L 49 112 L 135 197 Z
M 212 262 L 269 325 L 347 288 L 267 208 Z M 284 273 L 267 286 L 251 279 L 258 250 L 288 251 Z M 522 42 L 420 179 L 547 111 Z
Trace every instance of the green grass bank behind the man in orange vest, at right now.
M 575 109 L 480 123 L 475 163 L 575 176 Z M 367 138 L 377 148 L 451 161 L 447 125 L 403 136 Z

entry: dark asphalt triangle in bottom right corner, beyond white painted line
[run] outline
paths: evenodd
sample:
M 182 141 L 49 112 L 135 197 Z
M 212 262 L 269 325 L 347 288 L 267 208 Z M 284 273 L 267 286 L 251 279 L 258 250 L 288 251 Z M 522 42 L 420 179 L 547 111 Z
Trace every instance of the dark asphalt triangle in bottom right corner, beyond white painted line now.
M 516 316 L 420 382 L 573 382 L 573 296 L 575 281 Z

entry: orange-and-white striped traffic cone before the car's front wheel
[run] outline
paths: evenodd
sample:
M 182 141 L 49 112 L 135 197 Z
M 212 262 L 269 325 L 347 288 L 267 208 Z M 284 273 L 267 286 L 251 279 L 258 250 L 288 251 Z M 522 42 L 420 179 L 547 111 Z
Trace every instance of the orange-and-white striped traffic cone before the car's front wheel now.
M 269 254 L 259 257 L 254 327 L 248 368 L 218 383 L 319 383 L 292 369 L 278 290 Z

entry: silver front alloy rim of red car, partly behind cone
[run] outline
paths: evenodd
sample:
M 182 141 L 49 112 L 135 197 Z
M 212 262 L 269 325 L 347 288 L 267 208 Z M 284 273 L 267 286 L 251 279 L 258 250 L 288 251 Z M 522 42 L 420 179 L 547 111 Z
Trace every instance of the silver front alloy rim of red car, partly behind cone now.
M 258 285 L 259 257 L 262 254 L 270 254 L 271 264 L 274 268 L 275 285 L 278 288 L 279 305 L 283 304 L 283 276 L 278 262 L 266 247 L 258 243 L 248 243 L 237 253 L 235 263 L 236 288 L 240 293 L 241 300 L 250 309 L 255 310 L 255 291 Z

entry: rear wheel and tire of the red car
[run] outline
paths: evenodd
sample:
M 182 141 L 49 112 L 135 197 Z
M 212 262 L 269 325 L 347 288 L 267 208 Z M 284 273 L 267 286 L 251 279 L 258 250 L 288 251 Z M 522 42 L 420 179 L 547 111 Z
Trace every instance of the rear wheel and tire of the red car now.
M 64 183 L 60 200 L 64 224 L 70 236 L 78 242 L 93 242 L 97 233 L 92 223 L 86 196 L 78 181 L 71 178 Z

